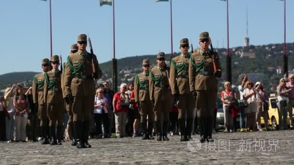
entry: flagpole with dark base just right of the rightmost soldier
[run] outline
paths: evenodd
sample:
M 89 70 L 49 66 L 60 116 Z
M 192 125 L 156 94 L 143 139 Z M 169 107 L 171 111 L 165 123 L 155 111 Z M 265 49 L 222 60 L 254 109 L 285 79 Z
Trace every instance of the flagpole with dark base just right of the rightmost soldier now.
M 226 57 L 226 79 L 232 83 L 232 68 L 231 68 L 231 55 L 229 46 L 229 0 L 227 1 L 227 57 Z

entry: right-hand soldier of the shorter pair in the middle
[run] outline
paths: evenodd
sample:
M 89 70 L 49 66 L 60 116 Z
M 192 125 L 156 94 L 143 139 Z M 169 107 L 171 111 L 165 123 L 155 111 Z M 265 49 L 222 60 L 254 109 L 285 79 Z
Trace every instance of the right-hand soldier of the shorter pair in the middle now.
M 165 54 L 160 52 L 156 56 L 157 66 L 149 72 L 149 95 L 155 114 L 157 141 L 169 140 L 167 130 L 172 98 L 168 71 L 165 67 Z

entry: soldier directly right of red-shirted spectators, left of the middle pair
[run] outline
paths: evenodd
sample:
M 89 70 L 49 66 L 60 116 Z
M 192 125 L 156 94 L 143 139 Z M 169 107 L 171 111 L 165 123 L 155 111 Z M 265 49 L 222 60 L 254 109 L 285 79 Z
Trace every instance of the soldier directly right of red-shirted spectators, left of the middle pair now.
M 136 74 L 134 81 L 134 97 L 135 102 L 139 105 L 139 112 L 141 115 L 140 124 L 143 130 L 143 140 L 154 139 L 152 137 L 154 112 L 152 111 L 152 104 L 149 96 L 149 59 L 144 59 L 142 63 L 143 72 Z M 148 115 L 148 129 L 147 129 L 147 115 Z

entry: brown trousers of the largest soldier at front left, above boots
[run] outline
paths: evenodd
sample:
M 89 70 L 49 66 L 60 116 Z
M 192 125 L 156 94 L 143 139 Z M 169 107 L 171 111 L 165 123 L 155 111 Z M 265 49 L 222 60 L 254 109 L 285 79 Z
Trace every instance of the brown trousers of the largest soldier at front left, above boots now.
M 95 96 L 74 96 L 73 99 L 73 121 L 93 120 Z

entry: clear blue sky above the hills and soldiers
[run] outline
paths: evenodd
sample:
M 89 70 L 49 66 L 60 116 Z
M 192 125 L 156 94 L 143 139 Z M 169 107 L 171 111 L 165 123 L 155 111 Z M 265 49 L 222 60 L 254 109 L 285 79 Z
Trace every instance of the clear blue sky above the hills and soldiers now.
M 294 0 L 287 0 L 287 42 L 294 42 Z M 283 1 L 230 0 L 230 47 L 242 46 L 248 8 L 250 44 L 283 42 Z M 116 57 L 171 52 L 170 4 L 155 0 L 115 0 Z M 49 1 L 2 0 L 0 5 L 0 74 L 41 71 L 41 59 L 50 57 Z M 100 63 L 113 57 L 112 7 L 98 0 L 52 0 L 53 54 L 63 60 L 77 35 L 89 33 Z M 208 31 L 214 47 L 226 47 L 226 2 L 173 0 L 173 45 L 180 39 L 198 45 Z M 224 42 L 224 43 L 223 43 Z

